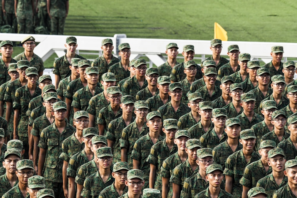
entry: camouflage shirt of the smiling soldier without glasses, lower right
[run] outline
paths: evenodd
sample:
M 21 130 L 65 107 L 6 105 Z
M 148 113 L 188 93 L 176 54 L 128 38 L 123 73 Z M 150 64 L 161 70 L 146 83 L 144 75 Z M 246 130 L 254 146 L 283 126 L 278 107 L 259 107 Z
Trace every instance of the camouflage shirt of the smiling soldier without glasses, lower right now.
M 232 155 L 230 155 L 225 163 L 224 175 L 228 175 L 233 178 L 233 186 L 232 186 L 232 195 L 234 197 L 242 196 L 242 185 L 239 183 L 239 180 L 244 175 L 244 168 L 251 164 L 254 161 L 259 160 L 261 157 L 255 151 L 252 152 L 252 157 L 247 163 L 244 158 L 242 149 L 236 151 Z

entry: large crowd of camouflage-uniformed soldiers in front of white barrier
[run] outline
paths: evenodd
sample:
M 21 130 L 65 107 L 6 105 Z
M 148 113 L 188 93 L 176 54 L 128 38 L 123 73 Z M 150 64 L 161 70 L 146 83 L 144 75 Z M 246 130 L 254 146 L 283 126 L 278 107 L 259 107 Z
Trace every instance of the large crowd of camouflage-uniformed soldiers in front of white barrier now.
M 283 47 L 260 66 L 238 45 L 198 65 L 130 60 L 103 39 L 92 63 L 66 54 L 43 75 L 35 39 L 0 43 L 0 194 L 14 197 L 296 197 L 297 80 Z M 297 73 L 297 72 L 296 72 Z

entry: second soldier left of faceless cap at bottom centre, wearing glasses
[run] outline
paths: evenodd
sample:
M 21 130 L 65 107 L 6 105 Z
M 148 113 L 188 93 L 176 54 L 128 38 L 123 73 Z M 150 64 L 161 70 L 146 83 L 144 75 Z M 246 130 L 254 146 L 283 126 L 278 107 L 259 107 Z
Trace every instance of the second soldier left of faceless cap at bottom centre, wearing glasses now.
M 120 161 L 115 163 L 113 165 L 113 172 L 111 173 L 114 182 L 100 192 L 99 198 L 118 198 L 124 195 L 128 191 L 125 180 L 127 180 L 127 172 L 129 170 L 130 168 L 127 162 Z

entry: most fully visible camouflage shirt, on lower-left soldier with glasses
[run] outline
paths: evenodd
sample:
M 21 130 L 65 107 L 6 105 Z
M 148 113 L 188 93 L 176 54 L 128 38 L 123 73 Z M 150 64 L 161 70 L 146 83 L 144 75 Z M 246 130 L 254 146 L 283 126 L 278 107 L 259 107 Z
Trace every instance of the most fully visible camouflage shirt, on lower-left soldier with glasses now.
M 45 180 L 63 182 L 63 160 L 57 159 L 57 157 L 63 152 L 62 142 L 72 135 L 74 131 L 76 131 L 76 129 L 68 123 L 66 123 L 65 129 L 61 134 L 55 123 L 52 123 L 50 126 L 42 130 L 38 147 L 46 150 L 46 157 L 42 172 L 42 176 Z

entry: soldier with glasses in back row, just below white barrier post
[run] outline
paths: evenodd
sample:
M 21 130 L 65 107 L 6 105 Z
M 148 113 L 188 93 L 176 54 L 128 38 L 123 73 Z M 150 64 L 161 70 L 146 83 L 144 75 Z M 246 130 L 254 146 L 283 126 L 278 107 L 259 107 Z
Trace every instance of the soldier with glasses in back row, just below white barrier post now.
M 129 43 L 121 43 L 119 45 L 119 56 L 121 56 L 121 61 L 109 67 L 108 72 L 114 73 L 116 76 L 116 82 L 120 82 L 124 78 L 130 76 L 129 58 L 131 55 Z M 118 84 L 116 84 L 117 86 Z

